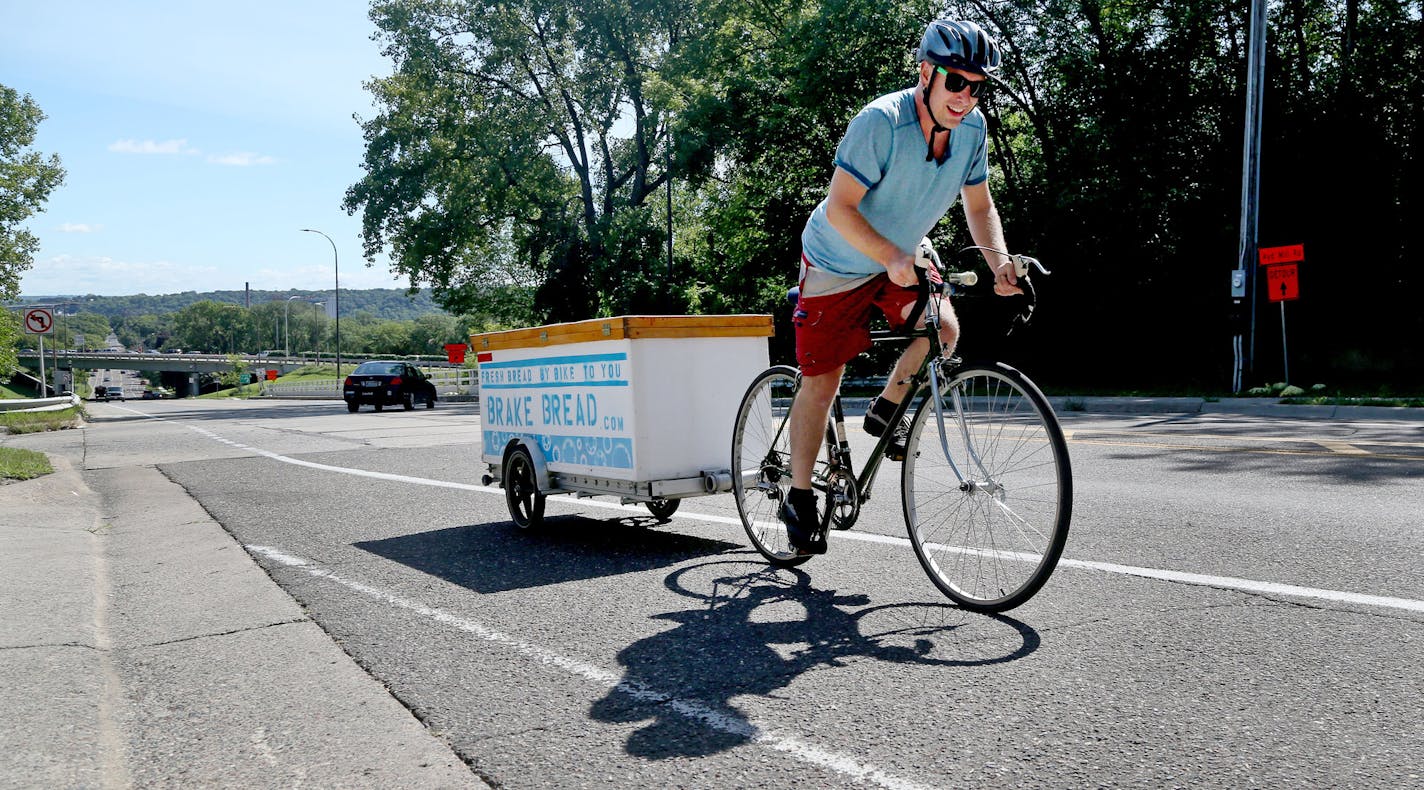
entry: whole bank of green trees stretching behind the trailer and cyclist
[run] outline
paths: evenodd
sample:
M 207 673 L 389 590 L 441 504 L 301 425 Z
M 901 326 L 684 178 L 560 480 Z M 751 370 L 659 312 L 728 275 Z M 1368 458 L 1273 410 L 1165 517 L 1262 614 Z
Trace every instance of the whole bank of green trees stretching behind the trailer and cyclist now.
M 1309 258 L 1292 372 L 1424 383 L 1424 346 L 1397 342 L 1424 336 L 1421 1 L 1269 9 L 1260 242 Z M 1010 243 L 1055 270 L 997 346 L 1004 302 L 963 300 L 965 353 L 1057 386 L 1223 387 L 1249 21 L 1229 0 L 382 0 L 396 74 L 372 84 L 346 206 L 367 253 L 471 330 L 671 305 L 772 312 L 789 346 L 782 293 L 834 145 L 910 84 L 933 16 L 1005 50 L 981 102 L 991 186 Z M 669 154 L 676 293 L 654 192 Z M 950 212 L 936 242 L 965 239 Z M 1256 354 L 1279 364 L 1273 323 Z

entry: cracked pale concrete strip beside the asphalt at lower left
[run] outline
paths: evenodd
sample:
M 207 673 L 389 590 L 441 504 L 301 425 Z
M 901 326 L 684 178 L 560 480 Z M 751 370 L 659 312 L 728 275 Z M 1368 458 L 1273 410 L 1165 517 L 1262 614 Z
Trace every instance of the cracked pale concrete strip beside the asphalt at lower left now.
M 487 786 L 154 467 L 7 485 L 0 787 Z

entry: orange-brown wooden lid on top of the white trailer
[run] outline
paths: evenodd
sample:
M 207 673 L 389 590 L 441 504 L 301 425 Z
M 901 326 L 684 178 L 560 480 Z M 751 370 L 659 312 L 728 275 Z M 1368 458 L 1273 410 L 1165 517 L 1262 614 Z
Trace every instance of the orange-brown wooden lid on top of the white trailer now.
M 772 316 L 617 316 L 530 329 L 471 335 L 476 352 L 540 349 L 590 340 L 637 340 L 644 337 L 770 337 Z

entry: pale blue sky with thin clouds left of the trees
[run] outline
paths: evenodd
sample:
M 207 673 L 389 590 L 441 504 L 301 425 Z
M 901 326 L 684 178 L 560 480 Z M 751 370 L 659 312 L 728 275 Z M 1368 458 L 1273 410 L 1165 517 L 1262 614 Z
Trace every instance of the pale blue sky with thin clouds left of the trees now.
M 362 0 L 0 0 L 0 84 L 67 177 L 26 226 L 26 296 L 403 288 L 367 268 L 362 83 L 390 74 Z

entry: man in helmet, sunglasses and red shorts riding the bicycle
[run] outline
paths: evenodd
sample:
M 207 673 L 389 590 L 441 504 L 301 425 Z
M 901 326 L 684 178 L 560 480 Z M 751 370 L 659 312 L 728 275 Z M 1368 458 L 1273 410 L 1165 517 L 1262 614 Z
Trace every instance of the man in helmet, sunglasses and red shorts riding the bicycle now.
M 836 148 L 829 194 L 802 232 L 800 300 L 793 316 L 802 386 L 790 414 L 792 488 L 780 511 L 800 554 L 826 552 L 812 470 L 842 373 L 870 347 L 873 309 L 891 327 L 906 329 L 918 292 L 914 251 L 920 239 L 963 199 L 974 243 L 1008 249 L 988 189 L 987 124 L 977 108 L 988 74 L 1000 65 L 998 46 L 973 21 L 934 20 L 916 57 L 916 87 L 871 101 L 850 121 Z M 984 258 L 994 270 L 995 293 L 1022 293 L 1005 256 L 985 251 Z M 938 280 L 933 265 L 928 275 Z M 958 339 L 958 320 L 948 299 L 936 299 L 947 354 Z M 927 350 L 927 339 L 914 340 L 866 411 L 871 436 L 897 431 L 887 450 L 894 460 L 904 458 L 907 426 L 891 427 L 889 418 L 909 394 L 907 380 Z

